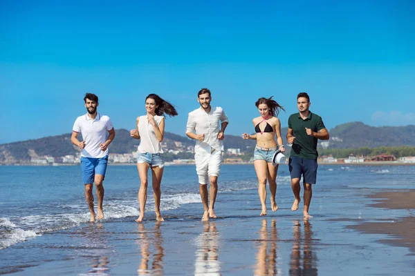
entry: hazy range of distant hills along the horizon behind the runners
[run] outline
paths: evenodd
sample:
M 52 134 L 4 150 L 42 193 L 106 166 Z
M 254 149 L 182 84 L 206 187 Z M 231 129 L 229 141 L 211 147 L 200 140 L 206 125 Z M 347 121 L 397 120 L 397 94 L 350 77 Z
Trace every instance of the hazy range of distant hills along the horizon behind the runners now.
M 367 146 L 376 148 L 379 146 L 415 146 L 415 126 L 367 126 L 361 122 L 352 122 L 336 126 L 329 130 L 330 140 L 324 147 L 328 148 L 359 148 Z M 286 144 L 287 128 L 282 128 L 282 137 Z M 171 132 L 165 132 L 164 142 L 167 148 L 177 148 L 177 142 L 182 146 L 194 146 L 194 141 Z M 129 130 L 116 130 L 116 139 L 110 146 L 113 153 L 131 153 L 136 150 L 139 140 L 131 139 Z M 228 148 L 240 148 L 241 152 L 252 153 L 255 146 L 254 140 L 243 140 L 240 136 L 225 135 L 223 141 L 225 150 Z M 18 141 L 0 145 L 0 164 L 27 163 L 30 157 L 42 157 L 50 155 L 62 157 L 75 155 L 80 149 L 71 144 L 71 133 L 64 135 L 44 137 L 28 141 Z

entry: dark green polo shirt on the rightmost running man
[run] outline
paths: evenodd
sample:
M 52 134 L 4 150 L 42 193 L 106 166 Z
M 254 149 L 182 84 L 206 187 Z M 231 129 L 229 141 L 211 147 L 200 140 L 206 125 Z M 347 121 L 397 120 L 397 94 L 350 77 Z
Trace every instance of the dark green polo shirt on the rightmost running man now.
M 298 112 L 288 118 L 288 128 L 293 130 L 293 136 L 295 137 L 291 148 L 291 156 L 305 159 L 317 159 L 318 139 L 307 135 L 306 128 L 311 128 L 313 132 L 318 132 L 319 130 L 326 128 L 322 117 L 310 112 L 308 117 L 303 120 Z

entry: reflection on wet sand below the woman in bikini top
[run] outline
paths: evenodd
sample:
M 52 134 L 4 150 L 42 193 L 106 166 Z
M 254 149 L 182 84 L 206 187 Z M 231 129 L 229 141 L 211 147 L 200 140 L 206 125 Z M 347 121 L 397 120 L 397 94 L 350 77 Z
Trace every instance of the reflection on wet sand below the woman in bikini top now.
M 277 220 L 271 221 L 271 230 L 268 236 L 267 221 L 262 219 L 259 231 L 259 246 L 255 275 L 281 275 L 277 264 Z M 268 249 L 269 248 L 269 249 Z

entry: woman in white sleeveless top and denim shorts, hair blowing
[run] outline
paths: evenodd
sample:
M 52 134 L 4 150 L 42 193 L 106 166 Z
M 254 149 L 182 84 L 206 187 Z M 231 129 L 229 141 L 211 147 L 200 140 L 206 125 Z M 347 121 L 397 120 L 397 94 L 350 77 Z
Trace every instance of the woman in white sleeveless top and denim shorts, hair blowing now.
M 156 94 L 150 94 L 145 98 L 147 115 L 137 117 L 136 129 L 130 131 L 130 136 L 140 139 L 138 146 L 137 169 L 140 177 L 140 190 L 138 191 L 138 203 L 140 204 L 140 216 L 137 222 L 142 222 L 145 215 L 145 203 L 147 201 L 147 174 L 149 168 L 153 172 L 153 195 L 156 211 L 156 220 L 164 221 L 160 214 L 160 184 L 163 177 L 164 160 L 161 142 L 165 130 L 165 117 L 176 116 L 177 111 L 169 102 L 161 99 Z

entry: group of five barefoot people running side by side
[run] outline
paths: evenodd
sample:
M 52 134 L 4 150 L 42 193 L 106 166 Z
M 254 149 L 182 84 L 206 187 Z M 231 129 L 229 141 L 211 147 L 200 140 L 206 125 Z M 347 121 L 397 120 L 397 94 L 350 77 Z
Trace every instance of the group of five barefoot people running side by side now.
M 218 190 L 218 177 L 224 150 L 223 139 L 225 128 L 228 126 L 228 117 L 222 108 L 210 105 L 212 95 L 208 88 L 202 88 L 198 92 L 197 101 L 200 108 L 189 113 L 186 135 L 190 139 L 196 140 L 194 160 L 204 209 L 202 221 L 208 221 L 210 218 L 216 218 L 214 203 Z M 104 181 L 107 170 L 108 146 L 116 137 L 111 119 L 98 113 L 98 104 L 96 95 L 86 93 L 84 97 L 86 115 L 77 117 L 71 136 L 71 142 L 82 149 L 82 179 L 86 202 L 91 213 L 90 221 L 95 221 L 95 218 L 104 218 L 102 210 L 104 186 L 102 181 Z M 291 188 L 295 197 L 291 210 L 295 211 L 299 208 L 301 201 L 299 182 L 302 178 L 304 186 L 303 216 L 305 219 L 311 217 L 308 213 L 312 196 L 311 186 L 316 183 L 317 179 L 317 139 L 329 139 L 329 132 L 326 130 L 322 118 L 309 110 L 310 105 L 310 97 L 306 92 L 297 95 L 299 112 L 289 117 L 286 136 L 288 144 L 291 144 L 288 166 L 291 173 Z M 252 119 L 255 134 L 243 133 L 242 138 L 257 140 L 253 159 L 259 182 L 260 215 L 264 216 L 267 215 L 267 180 L 271 193 L 271 210 L 278 209 L 275 201 L 278 164 L 273 164 L 273 157 L 277 151 L 285 152 L 281 136 L 281 123 L 277 118 L 279 112 L 284 108 L 273 97 L 259 98 L 255 106 L 260 114 L 259 117 Z M 145 109 L 147 114 L 137 117 L 136 128 L 130 131 L 130 136 L 133 139 L 140 139 L 137 157 L 137 169 L 140 176 L 140 190 L 138 191 L 140 215 L 136 221 L 142 222 L 145 216 L 149 169 L 151 169 L 152 176 L 156 220 L 164 221 L 160 213 L 160 184 L 165 165 L 161 142 L 165 133 L 165 115 L 174 117 L 178 113 L 171 103 L 156 94 L 150 94 L 146 97 Z M 108 135 L 107 132 L 109 132 Z M 79 133 L 82 134 L 82 141 L 77 139 Z M 95 184 L 95 193 L 98 199 L 98 215 L 95 214 L 93 204 L 93 184 Z M 210 184 L 209 190 L 208 184 Z

